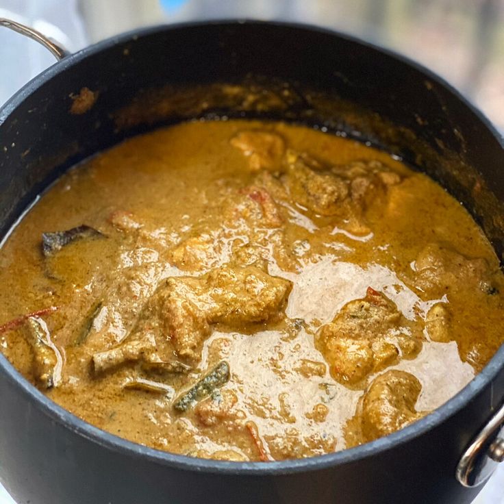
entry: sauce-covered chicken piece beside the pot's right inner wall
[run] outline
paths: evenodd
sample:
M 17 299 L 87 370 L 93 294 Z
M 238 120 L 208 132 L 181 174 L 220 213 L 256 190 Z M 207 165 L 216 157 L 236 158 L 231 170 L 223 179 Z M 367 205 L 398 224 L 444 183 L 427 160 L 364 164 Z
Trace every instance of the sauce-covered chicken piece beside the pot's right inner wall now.
M 496 270 L 482 257 L 469 258 L 440 244 L 428 244 L 415 262 L 415 285 L 429 295 L 471 288 L 492 294 Z

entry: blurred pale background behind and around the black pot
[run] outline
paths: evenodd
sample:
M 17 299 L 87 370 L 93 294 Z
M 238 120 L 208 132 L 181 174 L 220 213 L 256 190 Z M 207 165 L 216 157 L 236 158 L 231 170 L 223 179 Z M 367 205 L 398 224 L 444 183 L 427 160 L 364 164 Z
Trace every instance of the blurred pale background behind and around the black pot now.
M 0 0 L 0 17 L 31 25 L 71 51 L 159 23 L 257 18 L 329 27 L 431 68 L 504 135 L 504 0 Z M 6 29 L 0 60 L 0 105 L 54 63 L 36 42 Z M 0 454 L 2 463 L 8 461 Z M 6 503 L 12 501 L 0 486 Z M 504 468 L 475 504 L 504 504 Z

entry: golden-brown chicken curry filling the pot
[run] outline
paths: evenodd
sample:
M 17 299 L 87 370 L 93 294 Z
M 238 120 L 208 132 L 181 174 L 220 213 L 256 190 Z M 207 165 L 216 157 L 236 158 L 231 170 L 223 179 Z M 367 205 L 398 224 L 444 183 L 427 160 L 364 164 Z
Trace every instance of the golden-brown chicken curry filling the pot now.
M 409 425 L 503 342 L 504 278 L 455 199 L 387 153 L 260 121 L 123 142 L 0 251 L 0 348 L 156 449 L 310 457 Z

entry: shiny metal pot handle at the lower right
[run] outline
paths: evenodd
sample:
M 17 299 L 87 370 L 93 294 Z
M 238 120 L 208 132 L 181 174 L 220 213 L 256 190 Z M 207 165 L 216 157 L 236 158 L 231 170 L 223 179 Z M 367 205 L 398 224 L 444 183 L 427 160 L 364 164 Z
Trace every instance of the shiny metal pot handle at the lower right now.
M 504 462 L 504 404 L 464 451 L 456 477 L 466 487 L 484 483 Z

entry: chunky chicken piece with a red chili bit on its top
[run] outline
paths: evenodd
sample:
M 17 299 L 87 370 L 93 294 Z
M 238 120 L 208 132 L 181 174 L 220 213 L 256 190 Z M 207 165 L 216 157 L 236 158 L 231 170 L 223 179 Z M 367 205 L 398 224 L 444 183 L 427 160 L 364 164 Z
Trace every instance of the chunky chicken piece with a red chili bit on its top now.
M 368 288 L 364 299 L 350 301 L 317 334 L 317 346 L 334 379 L 355 385 L 421 349 L 421 332 L 384 294 Z

